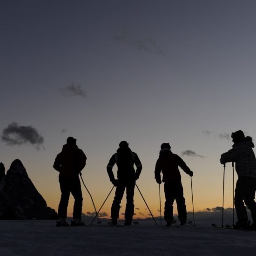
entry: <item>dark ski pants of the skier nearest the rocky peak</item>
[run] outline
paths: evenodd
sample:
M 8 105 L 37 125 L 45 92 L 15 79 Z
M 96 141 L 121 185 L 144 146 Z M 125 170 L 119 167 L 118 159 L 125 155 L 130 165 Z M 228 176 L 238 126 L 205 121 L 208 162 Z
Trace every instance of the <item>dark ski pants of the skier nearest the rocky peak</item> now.
M 58 209 L 59 217 L 67 218 L 67 205 L 71 193 L 74 196 L 73 217 L 81 219 L 83 197 L 79 177 L 67 178 L 59 176 L 59 182 L 61 187 L 61 201 Z

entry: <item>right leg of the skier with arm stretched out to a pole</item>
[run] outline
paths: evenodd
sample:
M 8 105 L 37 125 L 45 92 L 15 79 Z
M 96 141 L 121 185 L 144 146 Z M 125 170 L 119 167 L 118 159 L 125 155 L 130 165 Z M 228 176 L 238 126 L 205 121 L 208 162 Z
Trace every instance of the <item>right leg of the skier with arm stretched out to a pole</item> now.
M 183 187 L 182 182 L 176 182 L 175 184 L 175 200 L 177 203 L 177 210 L 178 210 L 178 218 L 181 224 L 186 224 L 187 222 L 187 209 L 185 204 L 185 198 L 183 196 Z

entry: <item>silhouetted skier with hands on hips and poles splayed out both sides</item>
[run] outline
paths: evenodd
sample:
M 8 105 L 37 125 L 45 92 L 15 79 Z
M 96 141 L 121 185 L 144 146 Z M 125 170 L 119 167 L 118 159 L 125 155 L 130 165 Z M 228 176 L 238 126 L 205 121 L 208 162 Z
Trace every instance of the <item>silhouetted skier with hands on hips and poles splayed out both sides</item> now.
M 113 174 L 112 168 L 117 165 L 117 179 Z M 136 165 L 136 171 L 134 169 Z M 115 198 L 111 207 L 111 222 L 117 224 L 119 218 L 120 203 L 126 189 L 126 209 L 125 209 L 125 225 L 131 225 L 134 215 L 134 188 L 135 182 L 141 174 L 141 161 L 138 155 L 131 151 L 126 141 L 119 143 L 117 153 L 112 155 L 109 160 L 107 171 L 110 181 L 116 186 Z

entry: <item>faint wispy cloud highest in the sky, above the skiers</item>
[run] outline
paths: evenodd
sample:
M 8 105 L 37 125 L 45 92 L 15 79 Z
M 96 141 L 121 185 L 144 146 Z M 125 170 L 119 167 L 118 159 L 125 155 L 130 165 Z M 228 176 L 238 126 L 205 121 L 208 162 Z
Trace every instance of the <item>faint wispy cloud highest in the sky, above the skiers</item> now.
M 117 42 L 136 47 L 138 50 L 146 53 L 163 55 L 161 48 L 157 46 L 152 37 L 135 38 L 133 35 L 128 34 L 126 27 L 122 29 L 121 33 L 114 35 L 114 39 Z

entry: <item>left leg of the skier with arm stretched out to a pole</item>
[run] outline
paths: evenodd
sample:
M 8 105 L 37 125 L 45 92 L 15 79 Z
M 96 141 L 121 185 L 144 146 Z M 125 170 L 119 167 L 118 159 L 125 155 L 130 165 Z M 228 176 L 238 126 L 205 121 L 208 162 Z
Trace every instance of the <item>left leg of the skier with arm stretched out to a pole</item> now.
M 172 182 L 164 183 L 164 194 L 165 194 L 165 203 L 164 203 L 164 219 L 167 222 L 167 225 L 171 225 L 173 221 L 173 184 Z

